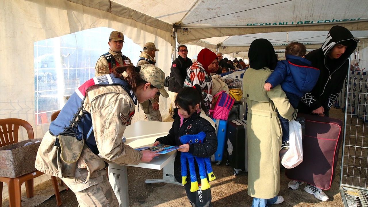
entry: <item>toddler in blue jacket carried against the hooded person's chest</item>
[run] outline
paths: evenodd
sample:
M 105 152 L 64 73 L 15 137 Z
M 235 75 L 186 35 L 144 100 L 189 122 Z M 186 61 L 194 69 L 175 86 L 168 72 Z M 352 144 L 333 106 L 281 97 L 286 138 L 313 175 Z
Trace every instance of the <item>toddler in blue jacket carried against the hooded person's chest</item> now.
M 305 46 L 299 42 L 291 42 L 285 48 L 286 60 L 277 62 L 275 70 L 267 78 L 264 88 L 271 88 L 281 84 L 290 104 L 297 108 L 299 100 L 317 83 L 319 70 L 312 67 L 312 63 L 304 59 L 307 52 Z M 280 116 L 282 127 L 282 149 L 289 148 L 289 121 Z

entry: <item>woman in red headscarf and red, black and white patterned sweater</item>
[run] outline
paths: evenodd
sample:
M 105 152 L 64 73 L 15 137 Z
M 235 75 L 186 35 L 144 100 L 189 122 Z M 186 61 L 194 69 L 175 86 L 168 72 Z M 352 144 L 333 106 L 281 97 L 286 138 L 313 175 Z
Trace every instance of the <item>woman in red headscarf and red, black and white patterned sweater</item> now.
M 210 73 L 216 73 L 218 68 L 216 53 L 207 48 L 202 49 L 198 53 L 197 62 L 188 67 L 187 77 L 184 81 L 186 87 L 192 87 L 195 84 L 201 85 L 203 101 L 208 112 L 212 102 L 212 78 Z

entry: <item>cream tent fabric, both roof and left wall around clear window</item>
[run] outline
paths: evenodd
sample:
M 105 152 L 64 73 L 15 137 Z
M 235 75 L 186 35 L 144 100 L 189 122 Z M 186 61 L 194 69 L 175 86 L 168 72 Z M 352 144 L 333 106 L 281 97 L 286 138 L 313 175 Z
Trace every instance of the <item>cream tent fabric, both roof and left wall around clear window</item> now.
M 353 31 L 355 37 L 368 37 L 367 0 L 1 0 L 0 10 L 0 118 L 27 120 L 36 138 L 42 138 L 49 126 L 35 121 L 38 41 L 113 28 L 140 46 L 154 42 L 160 49 L 156 65 L 169 74 L 177 42 L 196 45 L 190 47 L 194 50 L 190 56 L 206 47 L 246 57 L 242 51 L 254 38 L 269 39 L 275 49 L 293 40 L 319 48 L 335 24 Z M 107 51 L 107 40 L 103 41 Z M 88 51 L 93 51 L 96 42 L 90 44 Z M 60 44 L 53 49 L 60 52 Z M 90 60 L 86 70 L 93 71 L 95 61 Z M 162 112 L 168 105 L 169 101 L 160 100 Z

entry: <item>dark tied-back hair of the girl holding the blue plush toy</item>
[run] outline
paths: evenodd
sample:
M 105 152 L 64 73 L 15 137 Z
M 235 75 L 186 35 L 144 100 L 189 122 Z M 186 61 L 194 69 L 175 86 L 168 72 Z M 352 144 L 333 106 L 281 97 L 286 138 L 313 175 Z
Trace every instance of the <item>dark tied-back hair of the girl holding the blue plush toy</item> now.
M 194 87 L 181 88 L 175 99 L 175 105 L 180 106 L 180 108 L 184 109 L 188 113 L 190 113 L 189 106 L 194 108 L 198 103 L 200 108 L 207 113 L 207 107 L 205 106 L 202 97 L 202 87 L 198 84 L 195 84 Z

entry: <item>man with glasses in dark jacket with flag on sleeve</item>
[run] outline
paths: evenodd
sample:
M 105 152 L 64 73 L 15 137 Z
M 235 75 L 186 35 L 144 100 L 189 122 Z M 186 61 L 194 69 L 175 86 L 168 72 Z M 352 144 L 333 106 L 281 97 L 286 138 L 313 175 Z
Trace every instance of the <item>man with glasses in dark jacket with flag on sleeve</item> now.
M 187 68 L 192 66 L 193 62 L 187 57 L 188 48 L 185 45 L 178 46 L 178 57 L 171 63 L 170 80 L 169 80 L 169 97 L 171 105 L 175 107 L 175 98 L 180 90 L 183 88 L 185 77 L 187 77 Z

